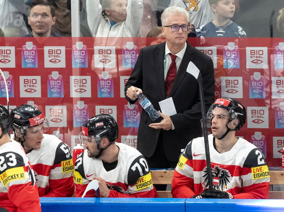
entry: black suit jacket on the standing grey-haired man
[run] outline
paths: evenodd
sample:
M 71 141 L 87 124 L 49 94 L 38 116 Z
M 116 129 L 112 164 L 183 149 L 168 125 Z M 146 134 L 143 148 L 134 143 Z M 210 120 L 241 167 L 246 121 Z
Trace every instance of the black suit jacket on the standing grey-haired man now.
M 157 44 L 141 49 L 135 67 L 125 84 L 126 91 L 130 86 L 141 88 L 156 110 L 161 110 L 159 101 L 166 98 L 164 82 L 165 44 Z M 169 161 L 178 161 L 180 149 L 184 149 L 191 139 L 202 136 L 201 103 L 199 86 L 196 78 L 186 72 L 192 61 L 200 70 L 203 80 L 206 112 L 214 101 L 214 66 L 212 59 L 203 52 L 186 43 L 184 57 L 172 85 L 169 97 L 172 97 L 176 115 L 170 116 L 174 130 L 164 130 L 164 152 Z M 138 128 L 137 149 L 145 156 L 151 157 L 157 145 L 160 130 L 148 125 L 160 122 L 162 117 L 152 121 L 146 111 L 142 111 Z

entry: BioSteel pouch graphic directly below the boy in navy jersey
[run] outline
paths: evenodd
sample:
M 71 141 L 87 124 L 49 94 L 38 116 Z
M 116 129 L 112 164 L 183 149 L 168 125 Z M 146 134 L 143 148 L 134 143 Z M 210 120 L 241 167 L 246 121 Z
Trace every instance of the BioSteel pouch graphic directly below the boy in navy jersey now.
M 239 47 L 234 42 L 228 42 L 225 46 L 224 68 L 240 68 Z

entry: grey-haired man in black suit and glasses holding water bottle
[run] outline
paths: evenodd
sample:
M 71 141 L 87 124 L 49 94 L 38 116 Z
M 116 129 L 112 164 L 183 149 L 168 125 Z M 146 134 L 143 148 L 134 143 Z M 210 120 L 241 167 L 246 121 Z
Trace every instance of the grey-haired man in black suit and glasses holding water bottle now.
M 152 121 L 147 112 L 142 111 L 137 149 L 146 157 L 150 168 L 174 168 L 180 150 L 191 139 L 202 136 L 199 87 L 197 80 L 186 72 L 188 63 L 192 61 L 201 72 L 206 111 L 214 101 L 214 67 L 209 56 L 186 42 L 189 15 L 185 9 L 170 6 L 164 10 L 161 20 L 166 42 L 141 49 L 125 85 L 125 98 L 133 104 L 137 100 L 136 92 L 140 91 L 156 110 L 160 110 L 159 101 L 172 97 L 175 115 L 159 112 L 161 117 Z M 171 64 L 169 53 L 177 56 L 177 72 L 166 96 L 165 80 Z

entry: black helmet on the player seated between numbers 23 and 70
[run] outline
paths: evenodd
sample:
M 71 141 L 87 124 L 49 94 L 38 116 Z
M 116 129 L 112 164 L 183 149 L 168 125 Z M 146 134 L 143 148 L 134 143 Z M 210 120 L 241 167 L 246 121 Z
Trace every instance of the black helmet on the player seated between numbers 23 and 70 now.
M 49 124 L 44 114 L 36 107 L 23 104 L 11 111 L 11 127 L 17 137 L 26 136 L 30 127 L 43 123 L 43 132 L 49 130 Z

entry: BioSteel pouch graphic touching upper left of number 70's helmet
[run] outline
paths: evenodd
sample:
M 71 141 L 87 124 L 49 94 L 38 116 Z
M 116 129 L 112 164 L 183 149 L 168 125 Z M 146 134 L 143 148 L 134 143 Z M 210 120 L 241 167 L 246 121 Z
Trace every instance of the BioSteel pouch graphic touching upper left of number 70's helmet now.
M 73 126 L 82 127 L 88 118 L 88 105 L 84 104 L 84 101 L 78 101 L 77 104 L 73 106 Z

